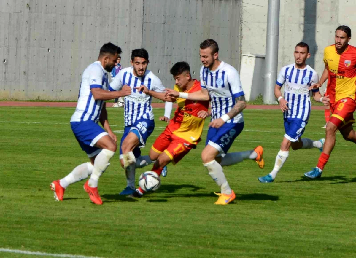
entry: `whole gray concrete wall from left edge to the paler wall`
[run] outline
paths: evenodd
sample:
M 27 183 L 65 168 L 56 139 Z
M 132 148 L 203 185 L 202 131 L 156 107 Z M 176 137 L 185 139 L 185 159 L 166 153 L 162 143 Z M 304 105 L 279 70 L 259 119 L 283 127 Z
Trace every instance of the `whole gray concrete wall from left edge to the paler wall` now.
M 186 60 L 199 78 L 199 43 L 216 39 L 239 65 L 240 0 L 0 0 L 0 99 L 75 100 L 83 70 L 111 41 L 129 66 L 145 47 L 154 73 Z

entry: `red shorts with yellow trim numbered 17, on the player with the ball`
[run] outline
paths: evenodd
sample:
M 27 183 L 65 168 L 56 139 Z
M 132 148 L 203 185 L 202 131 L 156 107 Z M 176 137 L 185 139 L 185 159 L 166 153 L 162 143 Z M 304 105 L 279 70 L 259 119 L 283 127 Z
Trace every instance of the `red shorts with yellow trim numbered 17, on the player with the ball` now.
M 164 130 L 157 137 L 151 148 L 157 153 L 166 153 L 167 156 L 171 158 L 173 165 L 175 165 L 192 148 L 195 148 L 195 146 L 195 144 L 175 136 L 170 130 L 167 130 L 166 128 L 166 130 Z

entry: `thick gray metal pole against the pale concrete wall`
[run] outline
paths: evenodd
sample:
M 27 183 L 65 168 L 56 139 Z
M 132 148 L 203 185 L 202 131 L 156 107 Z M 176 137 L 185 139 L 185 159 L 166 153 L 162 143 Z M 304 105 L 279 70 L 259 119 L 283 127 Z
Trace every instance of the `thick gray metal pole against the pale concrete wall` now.
M 263 94 L 265 104 L 273 104 L 276 101 L 274 85 L 278 65 L 279 2 L 279 0 L 268 0 L 265 91 Z

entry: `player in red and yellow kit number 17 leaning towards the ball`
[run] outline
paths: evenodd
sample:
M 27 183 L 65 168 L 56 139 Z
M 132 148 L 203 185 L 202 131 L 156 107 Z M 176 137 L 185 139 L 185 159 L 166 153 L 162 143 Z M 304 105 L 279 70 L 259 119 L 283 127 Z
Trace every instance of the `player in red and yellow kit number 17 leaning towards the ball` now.
M 200 91 L 200 82 L 192 79 L 190 67 L 187 62 L 178 62 L 173 65 L 171 74 L 178 92 L 192 93 Z M 208 116 L 209 101 L 191 101 L 182 98 L 162 97 L 155 91 L 148 90 L 146 86 L 137 88 L 145 94 L 164 101 L 177 101 L 178 107 L 174 117 L 166 129 L 158 136 L 150 150 L 150 158 L 156 160 L 152 171 L 161 175 L 163 168 L 170 162 L 174 165 L 179 162 L 191 149 L 195 149 L 203 132 L 205 117 Z M 139 187 L 133 194 L 141 197 L 145 191 Z

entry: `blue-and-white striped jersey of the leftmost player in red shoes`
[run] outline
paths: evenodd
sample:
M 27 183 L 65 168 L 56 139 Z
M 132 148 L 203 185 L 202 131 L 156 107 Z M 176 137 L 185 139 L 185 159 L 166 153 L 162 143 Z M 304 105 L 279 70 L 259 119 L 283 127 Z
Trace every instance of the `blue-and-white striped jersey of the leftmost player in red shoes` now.
M 93 120 L 97 123 L 105 100 L 95 100 L 90 89 L 100 88 L 108 90 L 108 86 L 108 73 L 104 70 L 100 61 L 90 64 L 83 72 L 77 108 L 70 122 Z

